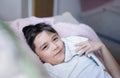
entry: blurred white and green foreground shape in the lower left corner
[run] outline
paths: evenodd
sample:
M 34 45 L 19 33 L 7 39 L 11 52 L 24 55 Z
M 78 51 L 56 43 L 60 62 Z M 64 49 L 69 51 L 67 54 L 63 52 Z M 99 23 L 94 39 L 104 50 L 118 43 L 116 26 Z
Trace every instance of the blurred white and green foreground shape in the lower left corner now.
M 50 78 L 35 54 L 0 20 L 0 78 Z

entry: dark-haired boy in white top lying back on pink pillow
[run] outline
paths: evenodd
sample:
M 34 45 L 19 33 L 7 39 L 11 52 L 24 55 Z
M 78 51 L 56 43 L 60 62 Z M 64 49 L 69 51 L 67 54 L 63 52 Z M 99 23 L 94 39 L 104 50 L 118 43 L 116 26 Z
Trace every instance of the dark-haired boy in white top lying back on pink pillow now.
M 52 78 L 120 77 L 117 62 L 100 41 L 88 41 L 87 38 L 78 36 L 61 39 L 45 23 L 26 26 L 23 33 L 30 48 L 39 56 Z M 101 51 L 107 70 L 91 53 L 97 50 Z

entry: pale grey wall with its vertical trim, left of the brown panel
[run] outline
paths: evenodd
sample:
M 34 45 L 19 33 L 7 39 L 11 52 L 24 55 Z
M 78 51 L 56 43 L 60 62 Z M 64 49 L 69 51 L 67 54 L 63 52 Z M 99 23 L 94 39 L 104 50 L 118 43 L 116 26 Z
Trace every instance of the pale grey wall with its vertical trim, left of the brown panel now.
M 32 0 L 0 0 L 0 17 L 6 21 L 32 16 Z

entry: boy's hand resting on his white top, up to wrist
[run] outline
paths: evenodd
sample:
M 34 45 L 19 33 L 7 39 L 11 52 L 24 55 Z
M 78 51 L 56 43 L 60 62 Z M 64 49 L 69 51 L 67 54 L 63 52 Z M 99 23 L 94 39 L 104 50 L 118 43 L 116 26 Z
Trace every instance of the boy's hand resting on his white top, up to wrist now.
M 80 55 L 87 55 L 91 52 L 100 50 L 104 44 L 101 41 L 85 41 L 75 44 L 76 52 Z

